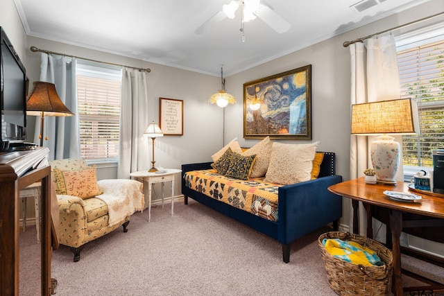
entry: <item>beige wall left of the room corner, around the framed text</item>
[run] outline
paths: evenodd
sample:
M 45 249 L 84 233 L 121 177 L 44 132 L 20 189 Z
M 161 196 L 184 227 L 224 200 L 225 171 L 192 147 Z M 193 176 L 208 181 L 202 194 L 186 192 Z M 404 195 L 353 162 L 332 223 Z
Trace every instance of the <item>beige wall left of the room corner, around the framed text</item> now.
M 40 76 L 40 53 L 29 50 L 31 46 L 103 62 L 150 68 L 151 73 L 147 73 L 148 109 L 146 116 L 148 122 L 159 122 L 160 97 L 183 100 L 184 106 L 183 136 L 165 136 L 155 141 L 156 167 L 180 168 L 185 163 L 210 162 L 214 151 L 222 147 L 223 110 L 207 103 L 209 96 L 219 89 L 220 78 L 37 37 L 27 37 L 27 44 L 27 69 L 31 83 L 38 80 Z M 32 130 L 35 119 L 28 118 L 30 119 L 28 121 L 29 129 Z M 146 157 L 151 158 L 151 145 L 149 147 L 150 150 L 146 151 Z M 109 165 L 98 166 L 97 174 L 100 180 L 112 179 L 117 177 L 117 168 Z M 176 195 L 180 195 L 180 184 L 180 175 L 177 175 L 174 189 Z M 155 186 L 156 195 L 153 195 L 153 199 L 160 199 L 160 188 L 159 184 Z M 170 186 L 165 186 L 166 197 L 171 196 L 170 188 Z M 148 188 L 145 188 L 145 193 L 148 193 Z

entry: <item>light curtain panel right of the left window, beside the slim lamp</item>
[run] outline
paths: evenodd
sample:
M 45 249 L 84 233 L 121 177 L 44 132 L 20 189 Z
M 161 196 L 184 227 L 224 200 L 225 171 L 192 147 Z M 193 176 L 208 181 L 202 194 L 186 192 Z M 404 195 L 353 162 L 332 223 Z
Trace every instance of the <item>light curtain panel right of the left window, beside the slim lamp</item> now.
M 146 73 L 123 69 L 121 93 L 121 119 L 119 164 L 117 177 L 128 179 L 131 172 L 148 170 L 148 139 L 144 131 L 148 126 L 148 94 Z

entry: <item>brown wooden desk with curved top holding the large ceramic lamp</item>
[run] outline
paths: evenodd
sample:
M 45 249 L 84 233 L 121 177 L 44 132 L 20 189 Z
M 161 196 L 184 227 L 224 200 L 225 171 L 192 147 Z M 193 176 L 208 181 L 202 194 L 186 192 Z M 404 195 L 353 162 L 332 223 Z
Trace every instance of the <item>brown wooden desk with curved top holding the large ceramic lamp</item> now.
M 391 200 L 387 195 L 382 193 L 385 190 L 409 191 L 407 183 L 398 183 L 395 186 L 382 184 L 366 184 L 364 177 L 334 184 L 328 188 L 332 193 L 341 195 L 345 198 L 352 199 L 353 203 L 353 232 L 357 233 L 357 204 L 359 201 L 368 205 L 390 209 L 390 227 L 392 232 L 392 252 L 393 252 L 393 293 L 397 296 L 402 295 L 402 278 L 401 278 L 401 253 L 400 253 L 400 235 L 402 227 L 411 227 L 411 225 L 427 226 L 436 220 L 402 221 L 402 213 L 420 214 L 432 218 L 444 219 L 444 198 L 437 198 L 431 195 L 421 194 L 420 202 L 398 202 Z M 415 193 L 418 194 L 418 193 Z M 419 195 L 419 194 L 418 194 Z M 442 220 L 440 220 L 442 222 Z M 410 225 L 409 225 L 410 224 Z M 371 221 L 370 221 L 371 227 Z M 367 230 L 370 231 L 370 228 Z M 371 237 L 371 234 L 370 234 Z

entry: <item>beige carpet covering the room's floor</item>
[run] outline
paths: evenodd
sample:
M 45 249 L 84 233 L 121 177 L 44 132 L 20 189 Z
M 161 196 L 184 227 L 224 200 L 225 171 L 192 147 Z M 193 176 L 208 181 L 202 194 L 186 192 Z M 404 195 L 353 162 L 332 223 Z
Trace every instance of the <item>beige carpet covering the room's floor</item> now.
M 56 295 L 336 295 L 318 249 L 318 229 L 292 244 L 288 264 L 281 245 L 194 200 L 137 212 L 120 227 L 88 243 L 74 263 L 68 247 L 52 255 Z M 40 295 L 35 226 L 21 232 L 20 293 Z M 404 260 L 408 261 L 408 260 Z M 404 263 L 403 261 L 403 263 Z M 418 263 L 435 277 L 442 268 Z M 418 268 L 418 266 L 417 266 Z M 406 278 L 406 285 L 417 284 Z

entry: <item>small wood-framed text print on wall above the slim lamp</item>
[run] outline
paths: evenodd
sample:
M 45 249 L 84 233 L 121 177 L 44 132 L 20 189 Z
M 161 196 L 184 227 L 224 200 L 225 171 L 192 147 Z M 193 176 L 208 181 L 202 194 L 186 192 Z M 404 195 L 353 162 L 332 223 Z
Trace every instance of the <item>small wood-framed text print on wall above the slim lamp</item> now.
M 183 101 L 173 98 L 160 98 L 160 129 L 165 136 L 183 135 Z

